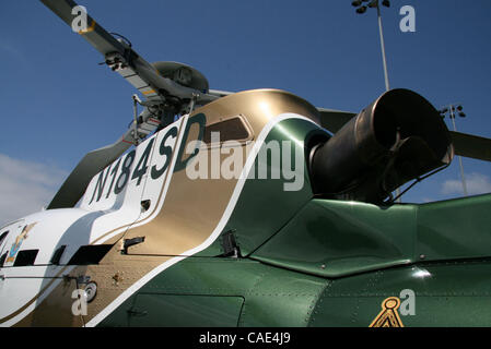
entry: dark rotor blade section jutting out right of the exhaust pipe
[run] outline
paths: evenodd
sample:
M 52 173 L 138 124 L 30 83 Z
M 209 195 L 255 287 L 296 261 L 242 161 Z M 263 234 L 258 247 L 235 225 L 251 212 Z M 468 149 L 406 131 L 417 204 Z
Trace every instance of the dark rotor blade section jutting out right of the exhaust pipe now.
M 455 154 L 491 161 L 491 140 L 478 135 L 451 131 Z

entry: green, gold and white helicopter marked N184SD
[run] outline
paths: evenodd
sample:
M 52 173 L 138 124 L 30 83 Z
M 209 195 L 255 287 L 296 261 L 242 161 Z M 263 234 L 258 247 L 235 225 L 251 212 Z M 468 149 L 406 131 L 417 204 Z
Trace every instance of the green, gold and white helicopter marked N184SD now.
M 1 227 L 2 326 L 490 323 L 491 194 L 400 204 L 393 192 L 455 155 L 491 161 L 491 140 L 448 131 L 404 88 L 359 113 L 210 89 L 190 65 L 149 63 L 75 2 L 42 2 L 80 19 L 143 97 L 45 210 Z

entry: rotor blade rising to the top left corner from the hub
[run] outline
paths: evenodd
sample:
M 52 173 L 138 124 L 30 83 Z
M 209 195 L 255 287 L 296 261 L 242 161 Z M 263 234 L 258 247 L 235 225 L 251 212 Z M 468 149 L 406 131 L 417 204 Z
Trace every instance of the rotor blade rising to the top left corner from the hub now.
M 40 1 L 69 26 L 72 26 L 72 22 L 81 13 L 74 11 L 77 14 L 72 14 L 73 8 L 77 7 L 77 3 L 72 0 Z M 190 99 L 194 95 L 197 95 L 197 101 L 201 103 L 217 99 L 215 96 L 209 95 L 208 92 L 186 87 L 171 79 L 163 77 L 152 64 L 139 56 L 129 45 L 116 39 L 89 14 L 86 15 L 86 29 L 78 33 L 97 51 L 104 55 L 106 63 L 114 71 L 117 71 L 149 99 L 165 99 L 165 94 L 183 99 Z M 165 93 L 162 93 L 161 89 L 165 91 Z

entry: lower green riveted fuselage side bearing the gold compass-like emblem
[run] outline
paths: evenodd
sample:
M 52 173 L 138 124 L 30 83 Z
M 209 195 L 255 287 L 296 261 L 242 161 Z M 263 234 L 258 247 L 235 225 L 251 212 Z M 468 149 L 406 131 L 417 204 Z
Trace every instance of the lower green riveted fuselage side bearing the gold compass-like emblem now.
M 490 326 L 490 297 L 489 261 L 419 263 L 327 279 L 247 258 L 189 257 L 100 325 L 367 327 L 385 300 L 398 298 L 406 327 Z

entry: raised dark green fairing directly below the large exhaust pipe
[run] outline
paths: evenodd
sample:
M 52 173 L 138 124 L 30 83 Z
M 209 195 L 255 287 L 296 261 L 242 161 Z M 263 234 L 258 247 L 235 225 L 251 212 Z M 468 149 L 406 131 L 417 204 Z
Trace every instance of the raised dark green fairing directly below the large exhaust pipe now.
M 489 194 L 390 207 L 312 200 L 253 257 L 329 278 L 418 262 L 488 258 L 490 202 Z M 464 218 L 469 216 L 476 218 Z

